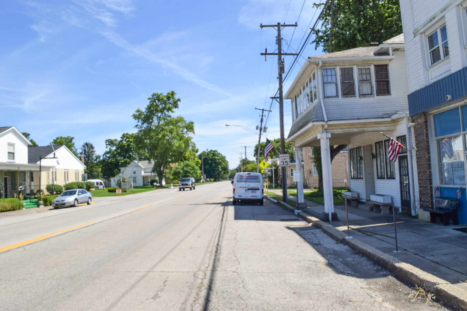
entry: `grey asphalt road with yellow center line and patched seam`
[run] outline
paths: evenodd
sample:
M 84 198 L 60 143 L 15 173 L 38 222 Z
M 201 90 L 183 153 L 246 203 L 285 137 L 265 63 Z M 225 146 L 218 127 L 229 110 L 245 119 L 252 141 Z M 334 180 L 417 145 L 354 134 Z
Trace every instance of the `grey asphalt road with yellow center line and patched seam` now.
M 231 194 L 219 182 L 0 218 L 0 310 L 446 310 Z

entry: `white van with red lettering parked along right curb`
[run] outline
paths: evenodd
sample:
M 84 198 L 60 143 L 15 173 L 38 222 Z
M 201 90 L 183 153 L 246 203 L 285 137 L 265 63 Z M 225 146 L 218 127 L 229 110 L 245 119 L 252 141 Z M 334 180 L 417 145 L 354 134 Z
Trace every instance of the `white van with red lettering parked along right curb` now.
M 233 179 L 233 205 L 238 202 L 264 204 L 261 173 L 236 173 Z

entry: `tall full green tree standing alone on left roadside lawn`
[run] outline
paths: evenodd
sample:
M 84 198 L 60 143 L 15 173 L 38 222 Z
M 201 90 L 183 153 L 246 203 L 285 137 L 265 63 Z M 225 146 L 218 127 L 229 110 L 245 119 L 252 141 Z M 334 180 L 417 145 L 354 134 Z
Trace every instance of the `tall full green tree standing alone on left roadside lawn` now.
M 189 159 L 194 147 L 190 136 L 195 133 L 194 123 L 171 115 L 180 103 L 176 95 L 174 91 L 153 93 L 145 110 L 137 109 L 133 114 L 138 130 L 134 145 L 142 159 L 154 162 L 152 172 L 161 185 L 170 164 Z

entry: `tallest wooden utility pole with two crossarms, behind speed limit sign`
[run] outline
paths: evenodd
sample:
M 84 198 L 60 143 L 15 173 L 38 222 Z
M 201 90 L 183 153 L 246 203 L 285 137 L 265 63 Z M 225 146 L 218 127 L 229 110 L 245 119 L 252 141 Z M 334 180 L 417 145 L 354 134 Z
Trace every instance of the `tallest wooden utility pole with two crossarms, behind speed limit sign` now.
M 282 75 L 285 72 L 284 69 L 284 60 L 282 55 L 298 55 L 291 53 L 282 53 L 282 36 L 281 28 L 282 27 L 297 27 L 297 24 L 283 24 L 277 23 L 277 25 L 260 25 L 263 27 L 277 27 L 277 53 L 261 53 L 261 55 L 277 55 L 277 65 L 279 70 L 279 121 L 281 127 L 281 154 L 285 154 L 285 140 L 284 140 L 284 100 L 283 100 L 283 91 L 282 91 Z M 267 57 L 267 56 L 265 56 Z M 274 97 L 276 99 L 276 97 Z M 282 200 L 287 202 L 287 175 L 286 175 L 285 166 L 282 167 Z

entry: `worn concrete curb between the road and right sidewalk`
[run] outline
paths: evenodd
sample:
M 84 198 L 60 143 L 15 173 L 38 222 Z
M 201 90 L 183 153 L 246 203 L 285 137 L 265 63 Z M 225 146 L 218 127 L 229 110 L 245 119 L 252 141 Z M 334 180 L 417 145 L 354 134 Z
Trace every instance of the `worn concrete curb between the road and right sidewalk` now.
M 296 209 L 287 203 L 278 201 L 285 209 L 291 212 Z M 298 212 L 299 216 L 313 226 L 322 229 L 327 235 L 336 241 L 346 243 L 350 248 L 366 256 L 371 261 L 393 272 L 402 280 L 422 287 L 443 303 L 460 310 L 467 310 L 467 291 L 454 286 L 442 278 L 425 272 L 409 263 L 403 263 L 396 257 L 390 256 L 374 247 L 355 239 L 346 239 L 346 234 L 336 229 L 333 225 L 320 221 L 318 218 L 310 216 L 304 212 Z

